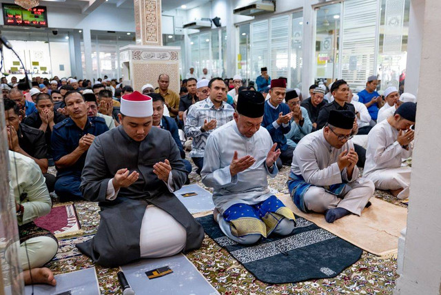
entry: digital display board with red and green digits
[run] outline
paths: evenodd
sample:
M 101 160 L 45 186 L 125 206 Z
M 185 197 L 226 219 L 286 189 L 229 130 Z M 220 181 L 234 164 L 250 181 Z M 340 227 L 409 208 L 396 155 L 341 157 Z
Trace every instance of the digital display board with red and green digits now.
M 29 10 L 15 4 L 3 3 L 2 6 L 5 26 L 48 27 L 45 6 L 36 6 Z

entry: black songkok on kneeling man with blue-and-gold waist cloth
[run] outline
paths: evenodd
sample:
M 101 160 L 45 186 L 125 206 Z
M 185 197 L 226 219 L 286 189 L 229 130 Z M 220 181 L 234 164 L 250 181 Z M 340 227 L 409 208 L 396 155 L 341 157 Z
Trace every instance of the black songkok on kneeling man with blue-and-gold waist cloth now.
M 265 97 L 260 92 L 243 90 L 238 94 L 236 110 L 243 116 L 258 118 L 265 112 Z

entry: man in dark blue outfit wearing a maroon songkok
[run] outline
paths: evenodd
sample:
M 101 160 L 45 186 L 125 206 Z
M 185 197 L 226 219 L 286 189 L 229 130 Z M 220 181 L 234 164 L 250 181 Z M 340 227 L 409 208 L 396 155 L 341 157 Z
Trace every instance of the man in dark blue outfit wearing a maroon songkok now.
M 291 130 L 289 121 L 292 119 L 292 112 L 286 103 L 283 103 L 287 94 L 287 82 L 285 79 L 271 81 L 269 100 L 265 102 L 265 114 L 263 115 L 262 126 L 267 128 L 271 139 L 277 143 L 280 149 L 280 156 L 277 159 L 277 167 L 291 165 L 294 148 L 287 145 L 285 134 Z

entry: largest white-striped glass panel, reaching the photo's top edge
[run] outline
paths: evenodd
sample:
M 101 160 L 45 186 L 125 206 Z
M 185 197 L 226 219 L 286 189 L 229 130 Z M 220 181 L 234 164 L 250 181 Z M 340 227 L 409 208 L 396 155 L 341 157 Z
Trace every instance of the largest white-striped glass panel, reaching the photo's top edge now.
M 374 59 L 377 0 L 349 0 L 343 3 L 341 79 L 351 85 L 365 87 L 366 79 L 377 74 Z

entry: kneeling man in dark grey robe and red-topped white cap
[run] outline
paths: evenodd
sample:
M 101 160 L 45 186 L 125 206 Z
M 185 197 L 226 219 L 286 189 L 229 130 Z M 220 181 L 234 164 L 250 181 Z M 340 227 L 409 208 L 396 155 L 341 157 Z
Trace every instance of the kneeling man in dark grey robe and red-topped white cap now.
M 77 244 L 106 267 L 139 258 L 172 256 L 201 247 L 203 227 L 174 196 L 187 171 L 172 134 L 152 128 L 152 98 L 121 97 L 121 125 L 90 145 L 80 190 L 99 201 L 94 238 Z

